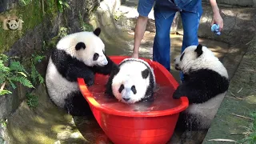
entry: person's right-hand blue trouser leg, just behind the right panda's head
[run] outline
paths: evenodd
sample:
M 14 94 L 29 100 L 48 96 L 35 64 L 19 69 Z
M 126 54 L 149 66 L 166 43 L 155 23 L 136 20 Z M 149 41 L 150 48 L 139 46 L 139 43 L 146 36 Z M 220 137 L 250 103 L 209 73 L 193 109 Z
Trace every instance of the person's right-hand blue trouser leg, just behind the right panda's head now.
M 183 26 L 182 52 L 187 46 L 198 45 L 198 26 L 202 15 L 202 9 L 198 8 L 198 13 L 181 12 Z M 180 72 L 183 81 L 183 74 Z

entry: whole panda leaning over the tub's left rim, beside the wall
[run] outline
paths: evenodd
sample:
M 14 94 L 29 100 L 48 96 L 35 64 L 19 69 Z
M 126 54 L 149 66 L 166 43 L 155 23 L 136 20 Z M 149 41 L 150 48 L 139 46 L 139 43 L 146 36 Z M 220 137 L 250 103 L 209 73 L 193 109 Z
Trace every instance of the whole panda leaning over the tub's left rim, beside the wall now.
M 110 74 L 114 64 L 105 54 L 99 38 L 100 28 L 68 34 L 60 39 L 50 55 L 46 70 L 46 87 L 50 99 L 74 116 L 91 114 L 83 98 L 77 78 L 87 86 L 94 85 L 94 74 Z

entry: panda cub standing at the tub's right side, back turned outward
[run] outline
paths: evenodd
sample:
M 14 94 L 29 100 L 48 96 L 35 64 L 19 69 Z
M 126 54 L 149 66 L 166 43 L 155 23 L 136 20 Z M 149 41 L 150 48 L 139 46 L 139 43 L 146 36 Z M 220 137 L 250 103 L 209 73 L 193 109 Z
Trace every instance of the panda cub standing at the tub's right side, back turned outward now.
M 186 96 L 190 102 L 177 126 L 182 130 L 208 130 L 229 87 L 226 68 L 201 44 L 187 47 L 174 63 L 175 69 L 184 74 L 184 82 L 174 91 L 173 98 Z

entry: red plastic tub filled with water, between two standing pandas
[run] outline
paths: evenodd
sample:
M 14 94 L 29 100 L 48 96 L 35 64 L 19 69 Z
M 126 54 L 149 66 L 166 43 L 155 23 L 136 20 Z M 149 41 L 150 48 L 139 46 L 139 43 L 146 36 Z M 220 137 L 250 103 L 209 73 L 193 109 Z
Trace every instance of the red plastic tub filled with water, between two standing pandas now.
M 110 58 L 118 64 L 128 57 L 110 56 Z M 87 88 L 83 78 L 78 78 L 79 88 L 86 101 L 89 102 L 94 117 L 114 144 L 164 144 L 168 142 L 174 133 L 179 113 L 186 110 L 189 105 L 186 97 L 177 100 L 172 98 L 178 82 L 168 70 L 158 62 L 142 59 L 154 69 L 158 85 L 167 87 L 162 90 L 162 95 L 158 94 L 162 98 L 167 98 L 167 101 L 165 99 L 162 103 L 153 102 L 146 108 L 144 106 L 145 110 L 138 110 L 139 106 L 136 103 L 128 105 L 118 102 L 115 98 L 106 100 L 106 95 L 103 94 L 108 78 L 106 76 L 96 75 L 95 86 L 91 88 Z

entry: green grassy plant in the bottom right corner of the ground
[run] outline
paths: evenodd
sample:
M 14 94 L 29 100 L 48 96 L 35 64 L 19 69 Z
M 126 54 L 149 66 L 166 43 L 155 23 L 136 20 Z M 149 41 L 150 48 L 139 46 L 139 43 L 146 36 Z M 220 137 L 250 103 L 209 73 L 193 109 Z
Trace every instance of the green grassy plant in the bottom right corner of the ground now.
M 243 138 L 238 143 L 245 143 L 245 144 L 256 143 L 256 112 L 251 113 L 250 118 L 252 120 L 250 122 L 250 126 L 247 128 L 246 137 Z

